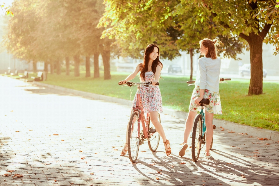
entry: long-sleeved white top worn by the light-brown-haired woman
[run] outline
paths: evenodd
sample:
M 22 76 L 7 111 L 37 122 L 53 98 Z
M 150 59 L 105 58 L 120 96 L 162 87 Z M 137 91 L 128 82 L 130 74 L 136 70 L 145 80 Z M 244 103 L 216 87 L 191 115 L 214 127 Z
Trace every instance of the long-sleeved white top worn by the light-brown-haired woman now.
M 219 57 L 217 59 L 199 58 L 196 86 L 199 86 L 200 89 L 219 92 L 220 70 L 221 59 Z

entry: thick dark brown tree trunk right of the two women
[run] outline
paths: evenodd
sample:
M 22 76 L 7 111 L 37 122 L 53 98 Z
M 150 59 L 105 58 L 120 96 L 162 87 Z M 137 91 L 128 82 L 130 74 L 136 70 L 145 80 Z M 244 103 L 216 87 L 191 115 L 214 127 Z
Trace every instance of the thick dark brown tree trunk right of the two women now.
M 248 95 L 262 94 L 262 42 L 263 39 L 250 33 L 248 41 L 250 47 L 251 79 Z

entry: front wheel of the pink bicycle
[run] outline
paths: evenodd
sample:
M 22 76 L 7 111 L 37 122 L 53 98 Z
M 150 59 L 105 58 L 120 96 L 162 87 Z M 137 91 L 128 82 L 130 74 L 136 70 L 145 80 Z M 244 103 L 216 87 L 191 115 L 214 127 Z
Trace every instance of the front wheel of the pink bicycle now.
M 134 163 L 137 160 L 137 155 L 139 153 L 140 148 L 140 127 L 138 126 L 138 120 L 138 113 L 133 112 L 133 114 L 130 117 L 128 128 L 128 154 L 129 159 L 132 163 Z

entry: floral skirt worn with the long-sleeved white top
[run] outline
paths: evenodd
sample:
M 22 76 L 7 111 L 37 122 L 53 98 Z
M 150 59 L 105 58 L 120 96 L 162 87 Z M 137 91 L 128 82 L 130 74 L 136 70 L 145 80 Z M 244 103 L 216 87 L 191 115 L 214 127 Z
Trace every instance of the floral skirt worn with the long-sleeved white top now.
M 200 92 L 200 87 L 196 86 L 193 91 L 192 98 L 191 98 L 190 105 L 189 105 L 190 111 L 201 111 L 201 106 L 194 103 L 194 99 L 196 97 L 200 96 L 199 92 Z M 213 91 L 205 89 L 204 93 L 203 93 L 203 99 L 210 100 L 209 105 L 205 105 L 205 110 L 207 112 L 212 113 L 212 114 L 222 114 L 221 100 L 220 100 L 219 92 L 213 92 Z

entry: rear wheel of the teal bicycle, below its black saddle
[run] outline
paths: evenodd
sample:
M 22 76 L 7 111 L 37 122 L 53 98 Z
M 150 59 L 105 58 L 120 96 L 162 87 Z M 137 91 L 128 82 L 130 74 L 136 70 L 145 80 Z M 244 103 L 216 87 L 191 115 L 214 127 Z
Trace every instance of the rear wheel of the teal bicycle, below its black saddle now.
M 201 135 L 202 123 L 201 115 L 197 114 L 194 120 L 193 135 L 192 135 L 192 159 L 194 162 L 198 161 L 201 152 Z

